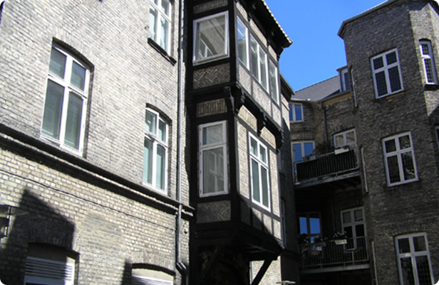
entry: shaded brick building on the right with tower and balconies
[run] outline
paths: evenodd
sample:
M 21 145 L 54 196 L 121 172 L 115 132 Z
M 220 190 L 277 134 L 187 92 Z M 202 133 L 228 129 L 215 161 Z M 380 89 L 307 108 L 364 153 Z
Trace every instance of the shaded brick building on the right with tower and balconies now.
M 290 103 L 301 284 L 439 280 L 438 32 L 436 1 L 385 1 L 342 23 L 339 75 Z

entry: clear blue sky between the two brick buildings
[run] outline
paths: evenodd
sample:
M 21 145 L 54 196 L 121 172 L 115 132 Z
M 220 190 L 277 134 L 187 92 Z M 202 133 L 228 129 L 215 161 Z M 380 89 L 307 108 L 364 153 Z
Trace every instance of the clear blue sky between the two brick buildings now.
M 384 0 L 265 0 L 293 43 L 280 71 L 295 91 L 337 75 L 346 65 L 341 23 Z

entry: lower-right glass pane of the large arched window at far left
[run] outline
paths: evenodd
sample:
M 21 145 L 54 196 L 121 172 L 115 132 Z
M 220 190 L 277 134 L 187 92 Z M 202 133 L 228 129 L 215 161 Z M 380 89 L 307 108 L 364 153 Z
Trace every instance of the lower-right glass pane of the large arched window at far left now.
M 81 115 L 83 113 L 83 100 L 80 96 L 70 92 L 68 96 L 66 136 L 64 143 L 73 149 L 78 149 L 81 134 Z

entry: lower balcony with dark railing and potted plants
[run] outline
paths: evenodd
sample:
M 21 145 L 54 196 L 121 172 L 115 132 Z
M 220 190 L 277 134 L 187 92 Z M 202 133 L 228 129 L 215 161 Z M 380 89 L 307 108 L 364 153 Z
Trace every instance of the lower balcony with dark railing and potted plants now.
M 316 244 L 300 244 L 300 268 L 302 274 L 368 269 L 369 257 L 366 237 L 347 239 L 339 245 L 334 240 L 318 247 Z

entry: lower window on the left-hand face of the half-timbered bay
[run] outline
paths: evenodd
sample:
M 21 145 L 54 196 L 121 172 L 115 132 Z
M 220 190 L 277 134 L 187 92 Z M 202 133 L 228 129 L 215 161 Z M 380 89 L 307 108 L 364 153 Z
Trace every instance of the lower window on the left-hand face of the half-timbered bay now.
M 200 196 L 227 193 L 226 122 L 200 125 Z

